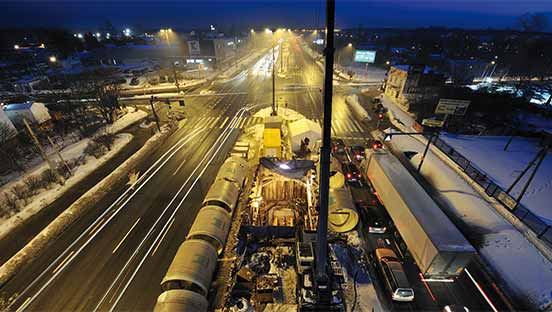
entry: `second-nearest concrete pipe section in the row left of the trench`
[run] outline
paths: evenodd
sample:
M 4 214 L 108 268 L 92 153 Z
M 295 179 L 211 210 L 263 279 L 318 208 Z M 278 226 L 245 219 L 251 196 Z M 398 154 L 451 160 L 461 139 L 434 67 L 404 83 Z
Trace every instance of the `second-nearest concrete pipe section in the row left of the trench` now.
M 204 240 L 184 241 L 161 281 L 161 289 L 185 289 L 207 296 L 217 257 L 215 247 Z

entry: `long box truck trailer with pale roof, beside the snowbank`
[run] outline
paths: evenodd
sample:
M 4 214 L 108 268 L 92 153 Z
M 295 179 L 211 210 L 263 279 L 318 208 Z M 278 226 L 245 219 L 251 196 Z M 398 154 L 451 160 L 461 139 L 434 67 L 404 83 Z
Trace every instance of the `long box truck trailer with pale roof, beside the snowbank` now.
M 462 273 L 475 248 L 401 162 L 386 150 L 367 149 L 361 168 L 424 278 Z

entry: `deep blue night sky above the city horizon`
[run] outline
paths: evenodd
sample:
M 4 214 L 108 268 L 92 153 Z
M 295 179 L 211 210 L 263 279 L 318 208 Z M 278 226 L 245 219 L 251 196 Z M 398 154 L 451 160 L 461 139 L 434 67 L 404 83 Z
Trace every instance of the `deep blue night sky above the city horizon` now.
M 182 29 L 309 27 L 324 23 L 324 1 L 28 1 L 0 0 L 0 27 L 56 26 L 97 29 L 106 20 L 117 27 Z M 513 28 L 525 12 L 545 13 L 552 22 L 552 0 L 363 0 L 336 1 L 337 26 L 447 26 Z M 552 26 L 552 25 L 551 25 Z M 552 30 L 549 27 L 548 30 Z

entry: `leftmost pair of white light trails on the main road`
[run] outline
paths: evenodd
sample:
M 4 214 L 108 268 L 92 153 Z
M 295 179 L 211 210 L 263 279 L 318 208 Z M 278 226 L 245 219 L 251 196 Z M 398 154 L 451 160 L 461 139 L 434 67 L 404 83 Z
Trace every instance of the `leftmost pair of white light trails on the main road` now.
M 148 170 L 146 170 L 146 172 L 144 173 L 144 175 L 142 175 L 142 177 L 138 178 L 138 181 L 140 181 L 141 179 L 143 179 L 143 178 L 147 175 L 147 173 L 148 173 L 150 170 L 153 170 L 153 168 L 154 168 L 155 166 L 157 166 L 157 164 L 158 164 L 159 162 L 162 162 L 162 163 L 159 165 L 159 167 L 157 167 L 157 168 L 154 170 L 154 172 L 153 172 L 150 176 L 147 177 L 146 181 L 145 181 L 144 183 L 140 184 L 140 185 L 138 186 L 138 188 L 134 191 L 134 193 L 132 193 L 132 194 L 130 195 L 130 197 L 129 197 L 123 204 L 121 204 L 121 206 L 119 206 L 119 207 L 115 210 L 115 212 L 107 219 L 107 222 L 105 222 L 105 223 L 100 227 L 100 230 L 103 229 L 103 228 L 104 228 L 104 227 L 105 227 L 105 226 L 106 226 L 106 225 L 107 225 L 107 224 L 108 224 L 108 223 L 109 223 L 109 222 L 110 222 L 110 221 L 111 221 L 111 220 L 112 220 L 112 219 L 113 219 L 123 208 L 124 208 L 124 206 L 130 201 L 130 199 L 132 199 L 132 198 L 134 197 L 134 195 L 136 195 L 136 194 L 140 191 L 140 189 L 141 189 L 144 185 L 146 185 L 147 182 L 148 182 L 149 180 L 151 180 L 151 178 L 153 178 L 153 177 L 155 176 L 155 174 L 156 174 L 159 170 L 161 170 L 161 168 L 163 168 L 163 166 L 169 161 L 169 159 L 172 158 L 172 156 L 173 156 L 176 152 L 178 152 L 182 147 L 184 147 L 184 145 L 185 145 L 186 143 L 188 143 L 189 141 L 191 141 L 195 136 L 197 136 L 197 135 L 198 135 L 199 133 L 201 133 L 203 130 L 204 130 L 204 129 L 201 129 L 201 128 L 192 130 L 192 132 L 191 132 L 190 134 L 188 134 L 188 135 L 185 136 L 184 138 L 180 139 L 176 144 L 174 144 L 171 148 L 169 148 L 169 150 L 166 151 L 166 152 L 165 152 L 165 153 L 164 153 L 164 154 L 163 154 L 163 155 L 162 155 L 152 166 L 150 166 L 150 167 L 148 168 Z M 179 144 L 181 144 L 181 145 L 178 146 Z M 168 158 L 163 160 L 163 158 L 164 158 L 166 155 L 168 155 L 168 154 L 170 154 L 170 155 L 168 156 Z M 124 196 L 126 196 L 126 195 L 128 194 L 128 192 L 130 192 L 131 190 L 133 190 L 133 189 L 132 189 L 131 187 L 129 187 L 123 194 L 121 194 L 121 196 L 119 196 L 119 198 L 117 198 L 117 199 L 115 200 L 115 202 L 113 202 L 113 204 L 111 204 L 111 205 L 110 205 L 110 206 L 109 206 L 109 207 L 108 207 L 108 208 L 107 208 L 107 209 L 96 219 L 96 221 L 94 221 L 94 223 L 95 223 L 95 222 L 98 222 L 99 219 L 103 218 L 103 217 L 106 216 L 108 213 L 110 213 L 110 212 L 111 212 L 111 209 L 112 209 L 113 207 L 115 207 L 115 206 L 119 203 L 119 201 L 120 201 L 122 198 L 124 198 Z M 24 295 L 25 293 L 27 293 L 32 287 L 34 287 L 34 285 L 38 282 L 38 280 L 41 279 L 41 278 L 42 278 L 42 277 L 43 277 L 43 276 L 44 276 L 44 275 L 45 275 L 45 274 L 46 274 L 46 273 L 47 273 L 47 272 L 48 272 L 48 271 L 49 271 L 49 270 L 50 270 L 50 269 L 51 269 L 51 268 L 52 268 L 52 267 L 53 267 L 53 266 L 64 256 L 64 255 L 65 255 L 65 254 L 67 254 L 67 252 L 69 252 L 69 250 L 70 250 L 71 248 L 73 248 L 73 246 L 75 246 L 75 245 L 85 236 L 85 234 L 94 226 L 94 223 L 92 223 L 92 224 L 91 224 L 91 225 L 90 225 L 90 226 L 89 226 L 79 237 L 77 237 L 77 239 L 76 239 L 73 243 L 71 243 L 71 245 L 69 245 L 69 247 L 67 247 L 67 248 L 65 249 L 65 251 L 63 251 L 56 259 L 54 259 L 54 261 L 52 261 L 52 262 L 50 263 L 50 265 L 48 265 L 48 267 L 46 268 L 46 270 L 44 270 L 42 273 L 40 273 L 39 276 L 38 276 L 37 278 L 35 278 L 35 279 L 34 279 L 34 280 L 33 280 L 33 281 L 32 281 L 32 282 L 31 282 L 31 283 L 30 283 L 30 284 L 19 294 L 19 296 L 18 296 L 17 298 L 21 297 L 22 295 Z M 99 230 L 99 231 L 100 231 L 100 230 Z M 86 247 L 90 244 L 90 242 L 96 237 L 96 235 L 99 233 L 99 231 L 96 232 L 94 235 L 92 235 L 90 238 L 88 238 L 88 239 L 84 242 L 84 244 L 83 244 L 81 247 L 79 247 L 79 249 L 77 250 L 77 252 L 73 255 L 73 258 L 75 258 L 76 256 L 78 256 L 78 255 L 82 252 L 82 250 L 84 250 L 84 248 L 86 248 Z M 65 265 L 66 265 L 66 264 L 65 264 Z M 65 266 L 65 265 L 64 265 L 64 266 Z M 28 302 L 27 302 L 25 305 L 23 305 L 22 308 L 25 309 L 25 308 L 26 308 L 26 305 L 29 305 L 30 303 L 32 303 L 32 302 L 33 302 L 33 301 L 44 291 L 44 289 L 46 289 L 46 288 L 52 283 L 52 281 L 59 275 L 60 272 L 61 272 L 61 271 L 58 271 L 58 272 L 54 273 L 54 275 L 51 276 L 51 277 L 45 282 L 45 284 L 42 285 L 42 287 L 40 287 L 39 290 L 38 290 L 35 294 L 33 294 L 33 296 L 30 297 L 31 299 L 28 300 Z M 8 307 L 6 307 L 6 308 L 9 309 L 10 307 L 11 307 L 11 304 L 10 304 Z

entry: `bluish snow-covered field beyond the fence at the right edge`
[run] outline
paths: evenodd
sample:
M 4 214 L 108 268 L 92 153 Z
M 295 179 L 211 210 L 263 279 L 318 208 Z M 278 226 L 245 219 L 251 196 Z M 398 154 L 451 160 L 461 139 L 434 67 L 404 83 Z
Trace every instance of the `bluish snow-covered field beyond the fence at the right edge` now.
M 507 151 L 504 151 L 504 146 L 510 137 L 442 134 L 440 138 L 486 172 L 503 189 L 507 189 L 512 184 L 542 148 L 538 145 L 537 139 L 522 137 L 514 137 Z M 511 194 L 514 198 L 520 194 L 529 175 L 530 171 L 513 189 Z M 551 192 L 552 158 L 549 155 L 542 162 L 521 201 L 527 209 L 548 224 L 552 224 Z

